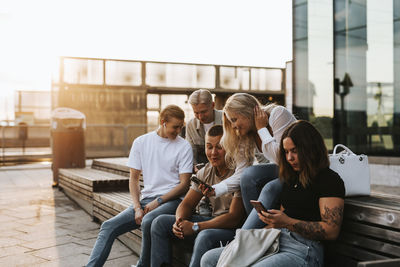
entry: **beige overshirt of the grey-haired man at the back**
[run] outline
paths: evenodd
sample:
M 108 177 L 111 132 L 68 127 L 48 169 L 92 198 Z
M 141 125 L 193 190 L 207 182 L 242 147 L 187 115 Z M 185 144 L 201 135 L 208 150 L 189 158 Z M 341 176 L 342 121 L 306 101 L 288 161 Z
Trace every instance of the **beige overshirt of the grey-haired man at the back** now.
M 222 125 L 222 110 L 214 109 L 214 125 Z M 186 140 L 192 146 L 193 163 L 207 163 L 205 152 L 205 136 L 204 125 L 196 118 L 191 119 L 186 124 Z

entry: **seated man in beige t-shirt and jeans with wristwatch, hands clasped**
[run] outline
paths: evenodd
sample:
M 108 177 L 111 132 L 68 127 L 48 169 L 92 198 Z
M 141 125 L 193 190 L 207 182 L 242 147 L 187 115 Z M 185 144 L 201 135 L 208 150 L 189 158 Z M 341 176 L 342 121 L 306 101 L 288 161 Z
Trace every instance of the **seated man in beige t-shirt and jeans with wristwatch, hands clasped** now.
M 198 178 L 217 184 L 231 176 L 233 170 L 225 164 L 225 150 L 220 144 L 223 129 L 213 126 L 206 136 L 206 154 L 209 163 L 198 172 Z M 203 187 L 203 186 L 202 186 Z M 231 241 L 235 228 L 243 222 L 245 211 L 240 191 L 220 197 L 210 197 L 212 217 L 193 215 L 193 210 L 203 197 L 198 185 L 192 184 L 176 215 L 160 215 L 151 227 L 151 267 L 171 265 L 170 240 L 174 238 L 195 240 L 190 267 L 200 266 L 205 252 Z

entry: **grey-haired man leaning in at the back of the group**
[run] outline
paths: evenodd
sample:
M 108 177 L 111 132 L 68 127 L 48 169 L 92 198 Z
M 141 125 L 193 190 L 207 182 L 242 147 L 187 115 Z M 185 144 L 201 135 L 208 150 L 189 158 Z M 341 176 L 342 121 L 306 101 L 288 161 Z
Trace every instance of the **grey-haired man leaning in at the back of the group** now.
M 207 163 L 204 150 L 205 135 L 213 125 L 222 125 L 222 111 L 214 109 L 212 95 L 204 89 L 194 91 L 189 97 L 189 103 L 195 117 L 186 125 L 186 140 L 192 146 L 193 163 Z

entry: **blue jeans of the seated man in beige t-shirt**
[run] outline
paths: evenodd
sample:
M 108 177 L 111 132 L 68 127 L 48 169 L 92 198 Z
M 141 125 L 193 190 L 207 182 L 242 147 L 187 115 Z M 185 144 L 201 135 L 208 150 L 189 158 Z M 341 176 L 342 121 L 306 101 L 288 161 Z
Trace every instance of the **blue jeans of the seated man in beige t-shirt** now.
M 192 222 L 202 222 L 212 219 L 193 215 Z M 171 240 L 177 240 L 172 232 L 172 225 L 175 223 L 174 215 L 160 215 L 151 226 L 151 266 L 160 267 L 162 264 L 171 264 Z M 231 241 L 235 236 L 234 229 L 205 229 L 197 235 L 186 237 L 185 240 L 194 240 L 190 267 L 200 266 L 200 259 L 204 253 L 212 248 L 219 247 Z

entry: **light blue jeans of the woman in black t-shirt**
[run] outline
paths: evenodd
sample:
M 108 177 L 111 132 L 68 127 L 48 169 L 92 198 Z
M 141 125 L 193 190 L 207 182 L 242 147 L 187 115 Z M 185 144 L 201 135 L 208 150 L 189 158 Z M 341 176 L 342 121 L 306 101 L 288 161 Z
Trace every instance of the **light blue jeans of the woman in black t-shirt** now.
M 324 249 L 321 242 L 309 240 L 285 228 L 281 231 L 279 252 L 256 262 L 253 267 L 323 266 Z M 204 254 L 201 267 L 217 266 L 222 250 L 223 248 L 216 248 Z

